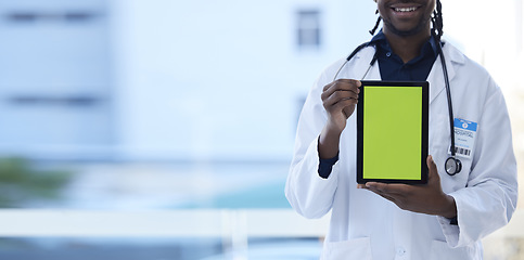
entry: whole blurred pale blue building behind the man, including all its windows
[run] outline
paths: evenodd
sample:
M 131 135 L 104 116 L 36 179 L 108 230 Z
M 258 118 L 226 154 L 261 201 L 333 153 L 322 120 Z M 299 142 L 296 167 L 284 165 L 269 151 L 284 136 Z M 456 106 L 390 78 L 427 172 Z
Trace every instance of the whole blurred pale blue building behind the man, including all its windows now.
M 342 0 L 0 1 L 0 153 L 287 160 L 308 88 L 369 38 L 373 12 Z

